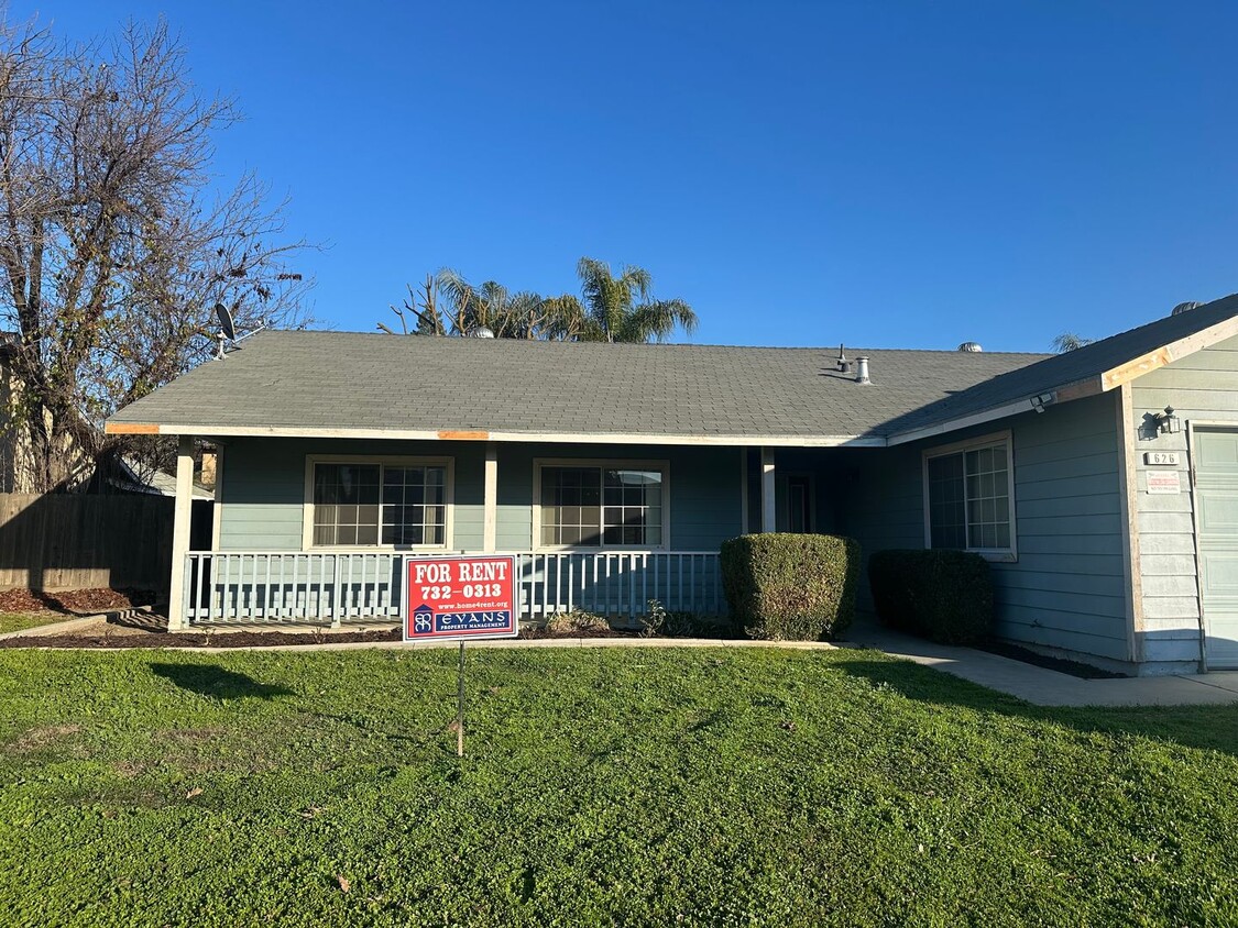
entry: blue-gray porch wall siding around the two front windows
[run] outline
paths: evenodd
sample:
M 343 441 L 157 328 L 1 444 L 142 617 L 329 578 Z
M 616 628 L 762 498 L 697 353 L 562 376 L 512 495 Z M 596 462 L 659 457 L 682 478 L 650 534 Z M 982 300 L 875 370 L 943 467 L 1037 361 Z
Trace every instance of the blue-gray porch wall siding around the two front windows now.
M 454 462 L 452 548 L 480 551 L 484 520 L 482 442 L 327 442 L 239 438 L 224 452 L 220 551 L 300 551 L 307 455 L 449 457 Z M 740 457 L 735 448 L 500 444 L 496 547 L 534 546 L 534 460 L 666 460 L 670 466 L 670 547 L 717 551 L 740 532 Z

